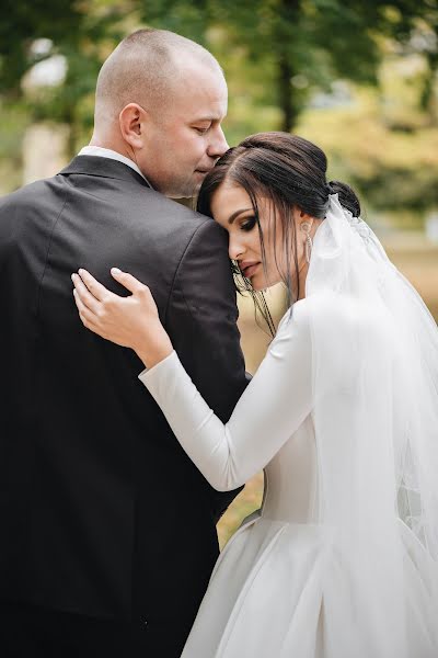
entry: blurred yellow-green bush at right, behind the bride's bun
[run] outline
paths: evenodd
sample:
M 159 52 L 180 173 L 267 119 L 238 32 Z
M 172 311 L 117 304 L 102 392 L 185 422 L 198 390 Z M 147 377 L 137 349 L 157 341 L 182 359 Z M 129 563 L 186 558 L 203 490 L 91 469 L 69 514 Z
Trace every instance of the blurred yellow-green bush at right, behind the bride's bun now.
M 374 90 L 356 89 L 353 98 L 349 106 L 306 112 L 297 126 L 330 154 L 330 178 L 348 180 L 374 208 L 438 206 L 438 127 L 425 118 L 420 127 L 392 128 Z

